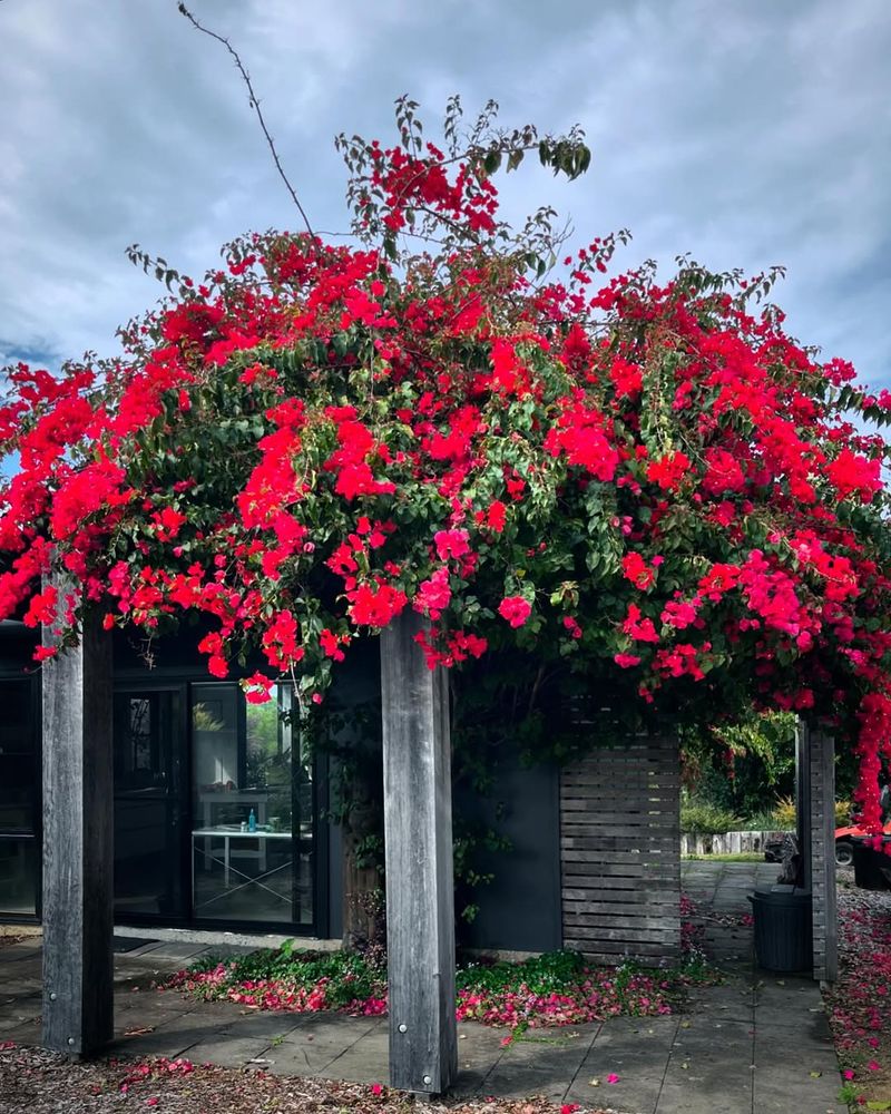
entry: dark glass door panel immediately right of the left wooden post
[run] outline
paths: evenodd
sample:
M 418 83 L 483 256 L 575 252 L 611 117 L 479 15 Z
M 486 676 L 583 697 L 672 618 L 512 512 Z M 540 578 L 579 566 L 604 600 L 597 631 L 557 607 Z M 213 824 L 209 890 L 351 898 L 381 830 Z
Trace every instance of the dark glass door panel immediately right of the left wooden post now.
M 183 920 L 186 719 L 182 687 L 115 693 L 115 913 Z

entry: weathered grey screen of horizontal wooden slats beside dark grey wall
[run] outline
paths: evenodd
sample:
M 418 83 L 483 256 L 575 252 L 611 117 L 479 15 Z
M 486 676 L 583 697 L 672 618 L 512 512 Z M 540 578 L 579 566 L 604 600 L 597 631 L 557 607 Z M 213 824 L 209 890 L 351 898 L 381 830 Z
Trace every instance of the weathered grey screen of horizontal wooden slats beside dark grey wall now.
M 560 778 L 564 946 L 601 962 L 681 954 L 676 739 L 598 747 Z

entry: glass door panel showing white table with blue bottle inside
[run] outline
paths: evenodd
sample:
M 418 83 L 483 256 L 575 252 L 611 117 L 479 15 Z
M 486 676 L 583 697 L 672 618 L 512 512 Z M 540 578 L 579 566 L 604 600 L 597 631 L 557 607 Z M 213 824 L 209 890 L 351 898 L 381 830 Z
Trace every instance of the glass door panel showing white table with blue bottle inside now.
M 290 687 L 274 696 L 248 704 L 237 685 L 192 686 L 196 920 L 312 924 L 312 808 L 301 825 Z

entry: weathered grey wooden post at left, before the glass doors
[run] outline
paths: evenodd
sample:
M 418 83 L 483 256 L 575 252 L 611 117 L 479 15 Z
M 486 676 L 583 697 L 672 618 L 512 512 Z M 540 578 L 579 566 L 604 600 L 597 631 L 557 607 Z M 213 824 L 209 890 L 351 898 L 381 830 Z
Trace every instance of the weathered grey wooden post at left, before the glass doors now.
M 111 642 L 87 620 L 43 665 L 43 1044 L 72 1056 L 114 1035 L 112 869 Z

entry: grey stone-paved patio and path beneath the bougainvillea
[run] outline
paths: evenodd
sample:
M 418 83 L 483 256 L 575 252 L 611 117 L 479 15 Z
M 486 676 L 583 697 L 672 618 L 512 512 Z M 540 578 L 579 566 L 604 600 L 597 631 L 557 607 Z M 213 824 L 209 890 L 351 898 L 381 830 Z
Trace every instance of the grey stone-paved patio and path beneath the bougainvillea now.
M 684 864 L 684 888 L 705 913 L 706 950 L 727 976 L 696 990 L 687 1014 L 547 1029 L 508 1048 L 503 1030 L 460 1025 L 456 1093 L 540 1094 L 621 1114 L 845 1114 L 816 985 L 760 970 L 752 929 L 738 924 L 750 911 L 746 893 L 768 886 L 776 870 Z M 159 942 L 116 956 L 111 1055 L 386 1082 L 385 1019 L 246 1012 L 151 988 L 205 950 Z M 0 1042 L 38 1043 L 39 1013 L 39 939 L 0 948 Z

